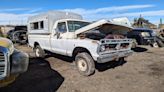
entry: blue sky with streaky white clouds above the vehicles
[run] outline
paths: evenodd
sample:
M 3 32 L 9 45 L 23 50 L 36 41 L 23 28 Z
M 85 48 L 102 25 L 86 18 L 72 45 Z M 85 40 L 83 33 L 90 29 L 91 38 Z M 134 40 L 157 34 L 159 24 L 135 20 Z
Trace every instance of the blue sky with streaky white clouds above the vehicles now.
M 0 24 L 26 24 L 29 16 L 49 10 L 71 11 L 86 20 L 128 17 L 142 14 L 151 22 L 164 21 L 163 0 L 1 0 Z

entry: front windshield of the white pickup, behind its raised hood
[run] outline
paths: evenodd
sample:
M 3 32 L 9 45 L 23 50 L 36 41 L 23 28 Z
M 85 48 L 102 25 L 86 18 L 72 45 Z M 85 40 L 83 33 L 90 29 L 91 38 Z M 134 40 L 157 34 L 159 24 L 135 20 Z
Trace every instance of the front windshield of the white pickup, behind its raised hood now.
M 80 29 L 90 24 L 89 22 L 83 21 L 68 21 L 67 23 L 69 32 L 75 32 L 77 29 Z

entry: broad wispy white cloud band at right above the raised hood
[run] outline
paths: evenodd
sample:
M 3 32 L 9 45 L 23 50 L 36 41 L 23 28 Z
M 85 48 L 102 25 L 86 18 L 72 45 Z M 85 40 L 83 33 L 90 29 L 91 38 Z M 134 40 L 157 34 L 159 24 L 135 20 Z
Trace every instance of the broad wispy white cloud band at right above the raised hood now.
M 63 9 L 63 11 L 75 12 L 81 14 L 84 19 L 87 20 L 98 20 L 98 19 L 110 19 L 115 17 L 139 17 L 140 14 L 144 17 L 161 17 L 164 16 L 164 10 L 147 10 L 144 11 L 145 8 L 153 8 L 155 5 L 146 4 L 146 5 L 128 5 L 128 6 L 114 6 L 114 7 L 104 7 L 104 8 L 96 8 L 96 9 Z M 132 12 L 132 11 L 135 12 Z M 142 12 L 139 12 L 141 11 Z M 151 19 L 150 19 L 151 20 Z M 155 21 L 152 19 L 152 21 Z M 156 20 L 158 21 L 158 20 Z

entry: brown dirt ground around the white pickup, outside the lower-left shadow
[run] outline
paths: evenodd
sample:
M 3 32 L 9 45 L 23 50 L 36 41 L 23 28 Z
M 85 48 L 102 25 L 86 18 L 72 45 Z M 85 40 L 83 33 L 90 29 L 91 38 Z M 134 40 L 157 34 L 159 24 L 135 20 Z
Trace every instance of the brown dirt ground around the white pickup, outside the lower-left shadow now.
M 31 53 L 27 46 L 16 48 Z M 164 92 L 164 48 L 140 46 L 121 64 L 97 64 L 89 77 L 78 73 L 71 58 L 54 54 L 45 60 L 64 78 L 58 92 Z

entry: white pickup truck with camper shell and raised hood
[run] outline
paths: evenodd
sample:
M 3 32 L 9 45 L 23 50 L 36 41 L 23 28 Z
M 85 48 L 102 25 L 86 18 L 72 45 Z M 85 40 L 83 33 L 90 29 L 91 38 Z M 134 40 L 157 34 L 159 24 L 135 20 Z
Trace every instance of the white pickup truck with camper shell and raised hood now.
M 75 13 L 51 11 L 28 19 L 28 41 L 37 57 L 45 51 L 70 56 L 80 74 L 89 76 L 95 62 L 123 60 L 132 54 L 131 39 L 126 34 L 131 27 L 107 20 L 87 22 Z M 113 35 L 113 36 L 110 36 Z

